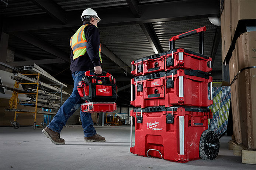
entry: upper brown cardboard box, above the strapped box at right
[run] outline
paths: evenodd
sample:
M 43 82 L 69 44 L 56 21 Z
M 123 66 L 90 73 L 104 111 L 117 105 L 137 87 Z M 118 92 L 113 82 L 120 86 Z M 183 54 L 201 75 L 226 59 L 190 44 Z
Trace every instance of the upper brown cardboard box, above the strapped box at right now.
M 222 62 L 231 46 L 238 21 L 256 18 L 255 0 L 225 0 L 221 13 Z

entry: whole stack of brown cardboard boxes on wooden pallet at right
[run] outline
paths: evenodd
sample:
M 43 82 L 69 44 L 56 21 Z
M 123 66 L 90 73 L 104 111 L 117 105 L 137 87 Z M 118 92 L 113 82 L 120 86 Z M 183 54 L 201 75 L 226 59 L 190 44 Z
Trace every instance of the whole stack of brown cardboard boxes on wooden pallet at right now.
M 256 149 L 256 69 L 247 68 L 256 66 L 255 11 L 255 0 L 221 1 L 222 62 L 229 64 L 233 134 L 249 149 Z

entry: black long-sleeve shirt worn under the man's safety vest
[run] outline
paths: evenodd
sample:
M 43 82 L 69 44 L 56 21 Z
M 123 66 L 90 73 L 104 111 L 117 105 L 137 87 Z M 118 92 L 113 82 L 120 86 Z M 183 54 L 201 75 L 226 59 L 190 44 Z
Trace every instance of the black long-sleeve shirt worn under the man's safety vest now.
M 70 54 L 70 70 L 72 74 L 76 71 L 88 71 L 95 66 L 100 66 L 99 57 L 99 45 L 100 45 L 100 31 L 99 29 L 91 25 L 90 22 L 86 22 L 83 25 L 89 24 L 84 28 L 84 35 L 87 40 L 86 53 L 76 59 L 73 59 L 73 50 L 71 48 Z

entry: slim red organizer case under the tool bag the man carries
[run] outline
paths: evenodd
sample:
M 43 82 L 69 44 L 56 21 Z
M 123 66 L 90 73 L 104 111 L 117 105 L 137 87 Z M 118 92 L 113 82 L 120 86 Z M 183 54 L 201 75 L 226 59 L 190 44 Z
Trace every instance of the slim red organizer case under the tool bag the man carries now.
M 114 102 L 89 102 L 81 104 L 82 112 L 113 112 L 117 109 L 117 104 Z

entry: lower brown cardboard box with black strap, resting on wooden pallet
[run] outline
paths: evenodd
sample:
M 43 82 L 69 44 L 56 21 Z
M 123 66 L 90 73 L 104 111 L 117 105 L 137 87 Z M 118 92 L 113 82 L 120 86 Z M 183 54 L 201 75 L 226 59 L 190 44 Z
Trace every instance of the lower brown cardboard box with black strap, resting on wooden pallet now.
M 236 41 L 229 63 L 231 81 L 242 68 L 256 66 L 256 32 L 243 33 Z M 231 84 L 234 135 L 238 143 L 256 149 L 256 69 L 239 73 Z

